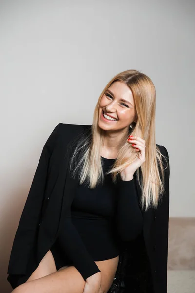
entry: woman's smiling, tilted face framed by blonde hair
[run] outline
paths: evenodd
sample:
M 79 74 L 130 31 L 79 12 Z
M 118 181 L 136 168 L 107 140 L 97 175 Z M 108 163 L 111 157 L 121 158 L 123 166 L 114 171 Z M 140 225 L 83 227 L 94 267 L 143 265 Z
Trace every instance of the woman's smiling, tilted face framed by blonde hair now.
M 103 113 L 115 120 L 109 120 Z M 132 91 L 123 82 L 116 81 L 101 98 L 98 125 L 103 130 L 122 130 L 129 129 L 133 121 L 136 122 L 136 110 Z

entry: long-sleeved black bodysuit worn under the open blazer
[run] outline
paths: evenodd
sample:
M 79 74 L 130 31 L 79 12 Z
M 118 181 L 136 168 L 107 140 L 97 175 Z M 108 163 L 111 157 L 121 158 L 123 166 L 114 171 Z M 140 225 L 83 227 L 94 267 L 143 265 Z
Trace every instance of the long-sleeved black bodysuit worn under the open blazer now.
M 95 261 L 119 255 L 120 241 L 136 239 L 143 227 L 134 178 L 114 185 L 105 172 L 116 159 L 101 158 L 105 181 L 94 189 L 78 184 L 70 213 L 50 249 L 57 270 L 74 265 L 85 280 L 101 272 Z

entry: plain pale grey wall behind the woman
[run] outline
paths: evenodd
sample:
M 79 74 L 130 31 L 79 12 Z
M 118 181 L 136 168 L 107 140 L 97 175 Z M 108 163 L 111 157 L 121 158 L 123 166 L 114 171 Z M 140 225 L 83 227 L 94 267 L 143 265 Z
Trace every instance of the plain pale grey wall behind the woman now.
M 170 216 L 195 217 L 195 2 L 0 1 L 0 285 L 42 147 L 59 123 L 91 124 L 118 72 L 156 86 L 156 143 L 170 157 Z

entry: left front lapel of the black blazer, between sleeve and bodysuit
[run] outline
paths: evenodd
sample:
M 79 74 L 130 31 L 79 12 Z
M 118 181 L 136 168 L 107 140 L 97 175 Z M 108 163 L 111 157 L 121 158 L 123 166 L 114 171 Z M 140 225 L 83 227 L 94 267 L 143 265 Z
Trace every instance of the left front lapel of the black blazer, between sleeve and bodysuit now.
M 54 243 L 60 229 L 60 223 L 63 221 L 63 217 L 66 215 L 67 209 L 70 207 L 74 196 L 74 189 L 76 188 L 77 180 L 73 180 L 69 173 L 69 161 L 71 155 L 71 141 L 67 147 L 64 147 L 62 153 L 61 163 L 59 164 L 59 170 L 57 178 L 55 179 L 54 188 L 50 194 L 50 200 L 42 218 L 42 223 L 39 226 L 37 248 L 37 262 L 39 263 L 39 257 L 45 254 L 45 238 L 50 239 L 51 243 Z

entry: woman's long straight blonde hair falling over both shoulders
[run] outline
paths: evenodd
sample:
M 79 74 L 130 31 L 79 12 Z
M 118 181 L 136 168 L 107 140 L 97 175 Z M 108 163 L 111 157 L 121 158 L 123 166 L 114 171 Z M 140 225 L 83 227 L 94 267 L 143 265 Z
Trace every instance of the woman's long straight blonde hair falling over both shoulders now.
M 148 76 L 137 70 L 126 70 L 117 74 L 103 89 L 94 109 L 93 124 L 90 132 L 81 133 L 77 141 L 77 146 L 70 160 L 70 170 L 73 168 L 74 158 L 78 152 L 81 152 L 79 160 L 75 163 L 73 177 L 79 170 L 79 183 L 83 184 L 86 180 L 88 188 L 95 188 L 97 184 L 103 182 L 104 173 L 102 168 L 101 147 L 103 143 L 102 129 L 98 126 L 99 104 L 105 91 L 115 81 L 121 81 L 132 91 L 135 109 L 137 114 L 137 123 L 132 123 L 129 131 L 124 135 L 117 159 L 107 174 L 111 173 L 113 183 L 116 184 L 118 174 L 134 160 L 138 153 L 129 147 L 127 138 L 129 133 L 143 138 L 146 142 L 145 162 L 137 169 L 138 182 L 141 187 L 141 206 L 145 211 L 153 205 L 157 208 L 160 195 L 164 192 L 164 166 L 163 156 L 156 146 L 155 139 L 155 110 L 156 110 L 156 90 L 155 86 Z M 127 157 L 131 149 L 130 158 Z M 166 159 L 165 159 L 166 161 Z M 159 166 L 159 168 L 158 168 Z M 142 179 L 140 181 L 139 172 Z M 161 175 L 162 178 L 161 178 Z M 131 190 L 130 190 L 131 192 Z

